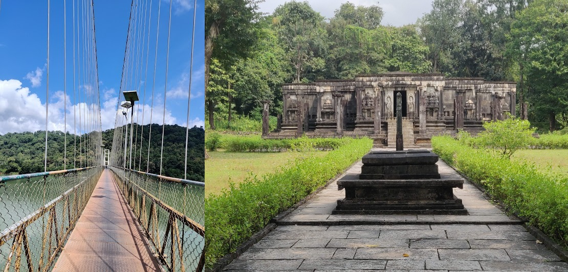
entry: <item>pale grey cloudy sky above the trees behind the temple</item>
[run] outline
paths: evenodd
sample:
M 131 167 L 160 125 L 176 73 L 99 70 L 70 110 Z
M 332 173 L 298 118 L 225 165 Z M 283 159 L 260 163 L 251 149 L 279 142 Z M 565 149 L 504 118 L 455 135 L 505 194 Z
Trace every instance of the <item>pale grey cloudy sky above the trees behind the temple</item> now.
M 262 12 L 272 14 L 274 8 L 289 1 L 286 0 L 266 0 L 258 6 Z M 415 23 L 416 20 L 432 9 L 433 0 L 351 0 L 351 1 L 329 1 L 329 0 L 308 0 L 315 11 L 320 12 L 325 18 L 332 18 L 333 12 L 339 9 L 341 3 L 351 2 L 356 6 L 378 5 L 385 11 L 382 24 L 395 25 L 397 27 Z

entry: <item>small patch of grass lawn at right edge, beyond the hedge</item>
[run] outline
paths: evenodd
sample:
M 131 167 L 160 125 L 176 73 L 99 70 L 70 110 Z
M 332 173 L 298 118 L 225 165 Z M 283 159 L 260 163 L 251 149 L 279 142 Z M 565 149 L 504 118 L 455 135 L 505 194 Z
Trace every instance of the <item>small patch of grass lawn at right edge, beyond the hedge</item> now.
M 528 149 L 515 152 L 513 158 L 523 158 L 545 171 L 552 170 L 568 177 L 568 149 Z

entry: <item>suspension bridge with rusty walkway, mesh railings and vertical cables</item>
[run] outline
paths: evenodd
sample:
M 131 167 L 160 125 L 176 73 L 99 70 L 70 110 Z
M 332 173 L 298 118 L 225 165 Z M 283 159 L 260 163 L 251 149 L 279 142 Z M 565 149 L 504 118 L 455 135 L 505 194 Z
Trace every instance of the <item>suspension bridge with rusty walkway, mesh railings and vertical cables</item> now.
M 44 158 L 36 158 L 43 159 L 44 172 L 0 176 L 0 269 L 203 271 L 204 183 L 187 179 L 188 125 L 183 169 L 178 169 L 183 176 L 164 174 L 168 62 L 175 57 L 170 56 L 174 1 L 132 0 L 112 143 L 103 139 L 94 1 L 64 0 L 64 35 L 51 43 L 49 31 L 55 26 L 50 25 L 47 2 L 45 145 Z M 187 31 L 190 67 L 195 7 L 197 1 L 193 29 Z M 164 29 L 166 33 L 160 33 Z M 50 50 L 64 52 L 63 78 L 55 80 L 64 82 L 64 107 L 68 98 L 73 100 L 70 114 L 64 109 L 64 131 L 71 132 L 65 133 L 61 161 L 52 155 L 59 147 L 48 137 Z M 165 79 L 157 84 L 158 69 Z M 163 96 L 155 99 L 154 91 L 161 92 L 156 85 L 161 84 Z M 148 104 L 149 116 L 144 109 Z M 149 124 L 149 131 L 143 124 Z M 152 129 L 161 129 L 161 140 L 152 139 L 158 135 Z M 160 155 L 153 156 L 158 150 Z

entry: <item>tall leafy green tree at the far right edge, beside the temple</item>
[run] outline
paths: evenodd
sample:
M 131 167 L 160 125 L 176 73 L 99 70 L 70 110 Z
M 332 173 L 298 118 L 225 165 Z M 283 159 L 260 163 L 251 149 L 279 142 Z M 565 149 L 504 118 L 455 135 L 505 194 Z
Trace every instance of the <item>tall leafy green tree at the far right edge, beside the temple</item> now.
M 532 120 L 568 113 L 568 0 L 537 0 L 520 11 L 508 36 L 508 50 L 523 67 Z

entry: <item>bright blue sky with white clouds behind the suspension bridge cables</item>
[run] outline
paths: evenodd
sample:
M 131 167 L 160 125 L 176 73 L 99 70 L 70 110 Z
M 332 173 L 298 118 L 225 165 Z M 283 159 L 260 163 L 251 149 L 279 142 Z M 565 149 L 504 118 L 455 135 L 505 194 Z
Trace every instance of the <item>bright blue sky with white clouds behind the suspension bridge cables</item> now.
M 161 1 L 161 2 L 160 2 Z M 204 1 L 197 0 L 197 20 L 191 78 L 191 104 L 189 125 L 203 126 L 204 119 Z M 90 1 L 80 0 L 81 3 Z M 149 14 L 150 1 L 135 7 L 137 14 Z M 47 60 L 47 1 L 2 1 L 0 6 L 0 134 L 18 131 L 36 131 L 45 128 L 46 60 Z M 75 1 L 77 5 L 77 1 Z M 157 7 L 161 4 L 160 36 L 156 65 L 156 82 L 153 78 L 154 49 L 156 46 Z M 150 110 L 150 93 L 154 87 L 154 114 L 152 122 L 162 123 L 164 91 L 166 91 L 166 124 L 186 125 L 187 93 L 189 88 L 191 31 L 193 25 L 193 0 L 173 0 L 172 27 L 169 47 L 168 82 L 165 88 L 166 44 L 168 34 L 169 0 L 152 0 L 152 25 L 150 30 L 149 68 L 146 78 L 143 70 L 137 76 L 127 78 L 124 90 L 138 90 L 140 104 L 147 92 L 145 107 L 137 109 L 141 114 Z M 50 52 L 49 52 L 49 130 L 63 130 L 64 96 L 67 90 L 67 130 L 73 131 L 73 1 L 66 0 L 67 8 L 67 78 L 64 81 L 64 11 L 62 1 L 50 3 Z M 95 30 L 97 40 L 99 92 L 103 129 L 114 127 L 116 106 L 123 70 L 128 20 L 131 1 L 94 1 Z M 144 14 L 144 13 L 142 13 Z M 144 18 L 139 16 L 137 18 Z M 139 24 L 139 28 L 143 24 Z M 148 30 L 147 30 L 148 31 Z M 141 33 L 141 31 L 136 32 Z M 147 39 L 148 34 L 144 34 Z M 141 39 L 138 39 L 139 41 Z M 147 43 L 134 49 L 145 51 Z M 135 51 L 131 51 L 135 52 Z M 140 56 L 143 56 L 141 53 Z M 132 59 L 132 58 L 131 58 Z M 130 73 L 135 67 L 145 68 L 145 56 L 132 61 Z M 134 68 L 132 68 L 134 67 Z M 136 80 L 136 82 L 134 81 Z M 145 84 L 148 83 L 148 86 Z M 76 88 L 81 90 L 85 86 Z M 123 100 L 121 95 L 120 100 Z M 89 101 L 86 101 L 89 104 Z M 77 102 L 78 104 L 78 102 Z M 158 114 L 156 114 L 158 112 Z M 145 124 L 148 124 L 145 116 Z

